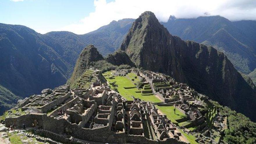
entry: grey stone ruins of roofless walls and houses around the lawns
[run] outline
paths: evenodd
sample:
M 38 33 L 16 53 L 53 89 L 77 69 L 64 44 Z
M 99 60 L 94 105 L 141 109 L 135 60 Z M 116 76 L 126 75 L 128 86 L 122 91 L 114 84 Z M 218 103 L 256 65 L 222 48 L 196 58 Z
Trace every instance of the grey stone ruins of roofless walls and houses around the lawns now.
M 154 83 L 168 83 L 170 89 L 161 88 L 155 92 L 162 100 L 158 105 L 175 105 L 186 115 L 183 121 L 189 120 L 190 126 L 204 128 L 205 120 L 199 111 L 204 103 L 195 98 L 194 89 L 169 76 L 150 71 L 119 70 L 115 74 L 128 72 L 134 72 L 144 79 L 154 92 Z M 176 98 L 172 99 L 173 96 Z M 180 132 L 180 127 L 170 122 L 154 103 L 137 98 L 128 101 L 101 81 L 91 83 L 90 88 L 70 89 L 65 85 L 54 90 L 45 89 L 41 95 L 20 101 L 17 109 L 21 109 L 24 114 L 6 118 L 6 127 L 14 124 L 22 128 L 25 124 L 26 127 L 43 129 L 43 133 L 49 136 L 72 136 L 89 142 L 189 143 Z M 207 138 L 203 139 L 207 141 Z M 198 138 L 198 142 L 201 141 L 202 138 Z

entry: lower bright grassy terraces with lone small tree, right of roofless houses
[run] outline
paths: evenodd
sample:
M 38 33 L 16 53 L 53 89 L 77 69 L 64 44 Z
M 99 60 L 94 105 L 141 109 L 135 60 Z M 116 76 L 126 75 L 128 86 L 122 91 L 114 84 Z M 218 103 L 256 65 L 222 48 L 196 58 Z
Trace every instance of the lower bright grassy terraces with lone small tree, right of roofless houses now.
M 181 113 L 178 109 L 176 109 L 175 113 L 174 113 L 174 106 L 158 106 L 156 105 L 157 109 L 159 109 L 163 114 L 165 114 L 167 116 L 167 118 L 169 120 L 171 120 L 171 122 L 173 123 L 177 123 L 179 126 L 184 126 L 184 125 L 187 125 L 189 124 L 190 122 L 186 121 L 186 122 L 180 122 L 178 123 L 176 120 L 177 119 L 181 119 L 181 118 L 184 118 L 184 116 L 186 116 L 185 114 Z M 193 130 L 195 129 L 196 127 L 191 127 L 189 128 L 190 130 Z M 182 130 L 180 130 L 181 133 L 186 136 L 186 138 L 188 139 L 188 141 L 191 143 L 191 144 L 198 144 L 196 141 L 195 141 L 195 137 L 191 134 L 186 134 L 184 133 Z

